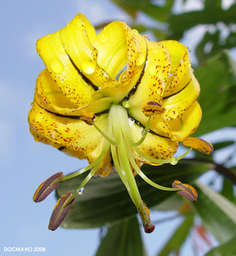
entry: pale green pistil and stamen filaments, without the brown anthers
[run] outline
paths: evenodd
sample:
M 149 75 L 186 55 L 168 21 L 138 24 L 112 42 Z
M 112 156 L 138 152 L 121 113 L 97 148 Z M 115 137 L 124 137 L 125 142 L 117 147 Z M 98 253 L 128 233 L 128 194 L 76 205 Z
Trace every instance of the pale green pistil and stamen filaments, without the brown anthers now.
M 86 185 L 88 180 L 90 180 L 90 178 L 92 178 L 92 176 L 96 174 L 97 169 L 101 165 L 101 162 L 105 158 L 106 153 L 110 149 L 112 153 L 112 160 L 114 161 L 115 169 L 119 174 L 119 176 L 121 177 L 122 182 L 126 186 L 126 189 L 128 191 L 128 194 L 130 195 L 131 200 L 137 207 L 140 218 L 142 219 L 144 230 L 147 233 L 151 233 L 153 232 L 155 225 L 151 223 L 151 219 L 149 218 L 148 207 L 146 207 L 146 204 L 144 203 L 144 201 L 142 201 L 142 198 L 140 196 L 137 183 L 135 182 L 135 173 L 137 173 L 141 178 L 143 178 L 146 182 L 148 182 L 153 187 L 156 187 L 157 189 L 162 189 L 165 191 L 178 191 L 178 189 L 163 187 L 149 180 L 149 178 L 146 175 L 144 175 L 144 173 L 140 170 L 140 167 L 135 161 L 135 158 L 133 157 L 133 151 L 139 154 L 140 157 L 148 161 L 151 161 L 154 164 L 165 164 L 165 163 L 177 164 L 178 160 L 185 157 L 185 155 L 189 153 L 191 148 L 185 154 L 181 155 L 181 157 L 178 157 L 178 158 L 171 157 L 166 160 L 152 158 L 142 153 L 142 151 L 140 151 L 138 146 L 140 146 L 140 144 L 144 142 L 144 140 L 146 139 L 146 136 L 148 135 L 151 116 L 149 116 L 146 128 L 144 128 L 144 130 L 142 130 L 141 132 L 141 139 L 135 142 L 133 141 L 131 128 L 129 124 L 129 117 L 125 107 L 126 106 L 122 107 L 121 105 L 115 105 L 115 104 L 112 105 L 108 114 L 106 133 L 103 132 L 96 125 L 96 123 L 94 123 L 94 121 L 90 122 L 90 124 L 92 124 L 97 129 L 97 131 L 101 133 L 101 135 L 103 135 L 103 137 L 105 138 L 101 153 L 99 157 L 97 157 L 97 159 L 94 160 L 94 162 L 89 164 L 87 167 L 81 169 L 80 171 L 77 171 L 76 173 L 73 173 L 72 175 L 66 176 L 62 180 L 73 178 L 74 176 L 78 176 L 81 173 L 84 173 L 85 171 L 88 171 L 90 169 L 90 173 L 87 175 L 85 180 L 83 180 L 83 182 L 80 184 L 78 189 L 76 189 L 76 192 L 74 192 L 73 196 L 71 197 L 70 201 L 72 201 L 76 196 L 76 194 L 80 193 L 81 189 L 83 189 L 83 187 Z

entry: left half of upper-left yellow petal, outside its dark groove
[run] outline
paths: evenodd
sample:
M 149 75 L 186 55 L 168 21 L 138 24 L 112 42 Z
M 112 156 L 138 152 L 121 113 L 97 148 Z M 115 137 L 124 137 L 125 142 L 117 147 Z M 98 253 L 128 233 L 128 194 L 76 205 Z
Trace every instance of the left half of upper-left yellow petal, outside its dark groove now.
M 95 89 L 72 64 L 63 47 L 60 31 L 40 38 L 37 51 L 51 77 L 72 104 L 81 107 L 93 101 Z

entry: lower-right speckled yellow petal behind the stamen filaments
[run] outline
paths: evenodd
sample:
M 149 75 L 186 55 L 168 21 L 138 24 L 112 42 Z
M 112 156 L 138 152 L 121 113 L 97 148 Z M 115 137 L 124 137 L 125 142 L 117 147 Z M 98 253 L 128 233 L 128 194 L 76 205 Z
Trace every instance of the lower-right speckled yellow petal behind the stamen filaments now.
M 143 129 L 137 124 L 133 123 L 133 121 L 130 121 L 129 123 L 133 140 L 139 141 L 140 137 L 142 136 L 141 133 Z M 171 139 L 169 138 L 160 137 L 158 135 L 155 135 L 154 133 L 148 132 L 146 139 L 138 148 L 149 157 L 156 159 L 167 159 L 171 158 L 176 152 L 178 148 L 178 142 L 171 141 Z M 140 155 L 135 153 L 135 151 L 133 151 L 133 155 L 140 162 L 158 165 L 140 157 Z

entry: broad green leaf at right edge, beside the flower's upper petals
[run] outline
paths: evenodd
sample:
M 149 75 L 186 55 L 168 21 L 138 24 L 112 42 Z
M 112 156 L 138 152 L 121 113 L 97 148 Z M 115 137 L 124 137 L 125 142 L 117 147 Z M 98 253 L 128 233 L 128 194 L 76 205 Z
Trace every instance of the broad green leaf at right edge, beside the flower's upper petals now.
M 194 136 L 226 126 L 235 126 L 236 64 L 227 51 L 211 58 L 195 71 L 201 85 L 198 101 L 203 110 L 201 123 Z

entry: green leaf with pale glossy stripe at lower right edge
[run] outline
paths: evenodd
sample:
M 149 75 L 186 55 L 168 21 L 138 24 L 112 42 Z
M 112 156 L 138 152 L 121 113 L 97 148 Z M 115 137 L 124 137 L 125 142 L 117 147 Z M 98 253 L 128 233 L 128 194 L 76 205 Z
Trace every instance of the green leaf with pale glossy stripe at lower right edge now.
M 198 201 L 193 205 L 203 225 L 220 243 L 232 239 L 236 235 L 236 206 L 200 182 L 194 187 L 198 191 Z

